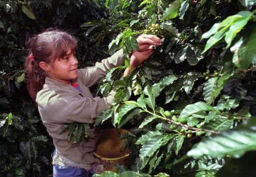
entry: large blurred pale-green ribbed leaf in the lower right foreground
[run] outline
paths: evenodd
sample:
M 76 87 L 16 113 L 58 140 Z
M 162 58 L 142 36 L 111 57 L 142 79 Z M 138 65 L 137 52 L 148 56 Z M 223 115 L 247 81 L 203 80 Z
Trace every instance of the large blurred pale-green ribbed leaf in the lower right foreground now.
M 235 129 L 210 136 L 194 145 L 188 156 L 199 158 L 202 155 L 210 157 L 224 157 L 229 155 L 234 158 L 241 157 L 247 151 L 256 150 L 256 119 L 245 121 Z

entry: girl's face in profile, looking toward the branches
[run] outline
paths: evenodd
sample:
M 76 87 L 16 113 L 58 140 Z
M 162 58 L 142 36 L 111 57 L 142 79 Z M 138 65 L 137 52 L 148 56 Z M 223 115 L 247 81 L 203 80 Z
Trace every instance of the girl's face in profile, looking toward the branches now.
M 56 59 L 50 64 L 47 74 L 56 81 L 70 84 L 70 80 L 78 77 L 77 65 L 78 61 L 69 48 L 64 58 Z

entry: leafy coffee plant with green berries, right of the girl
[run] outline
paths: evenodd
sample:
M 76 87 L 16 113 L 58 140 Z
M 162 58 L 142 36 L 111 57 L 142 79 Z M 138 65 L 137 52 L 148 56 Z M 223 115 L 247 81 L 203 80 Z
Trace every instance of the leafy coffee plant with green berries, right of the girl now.
M 116 95 L 96 125 L 110 119 L 116 128 L 131 127 L 123 137 L 124 146 L 132 150 L 133 163 L 126 169 L 131 176 L 255 174 L 252 167 L 244 167 L 251 162 L 245 153 L 256 149 L 255 4 L 106 1 L 110 20 L 120 30 L 109 50 L 123 49 L 128 60 L 138 48 L 138 34 L 154 34 L 163 41 L 129 76 L 119 80 L 129 67 L 125 62 L 110 70 L 99 88 L 103 96 L 113 88 Z M 128 172 L 95 176 L 124 174 Z

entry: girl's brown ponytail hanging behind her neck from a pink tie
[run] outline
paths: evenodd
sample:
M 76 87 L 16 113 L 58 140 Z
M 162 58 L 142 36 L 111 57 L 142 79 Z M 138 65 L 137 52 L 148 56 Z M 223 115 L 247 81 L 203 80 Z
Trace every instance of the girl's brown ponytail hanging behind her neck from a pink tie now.
M 36 94 L 45 83 L 45 74 L 40 68 L 39 63 L 31 59 L 31 54 L 26 57 L 24 67 L 26 69 L 26 88 L 35 103 Z

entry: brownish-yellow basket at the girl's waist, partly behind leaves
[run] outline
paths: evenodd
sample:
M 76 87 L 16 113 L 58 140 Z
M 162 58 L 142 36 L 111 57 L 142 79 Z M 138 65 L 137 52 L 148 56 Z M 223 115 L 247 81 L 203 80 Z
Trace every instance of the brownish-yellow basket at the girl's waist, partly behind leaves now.
M 128 133 L 124 129 L 102 130 L 96 144 L 94 156 L 104 162 L 104 171 L 118 172 L 117 164 L 127 165 L 129 149 L 122 149 L 124 140 L 120 134 Z

